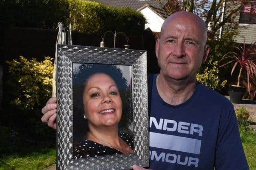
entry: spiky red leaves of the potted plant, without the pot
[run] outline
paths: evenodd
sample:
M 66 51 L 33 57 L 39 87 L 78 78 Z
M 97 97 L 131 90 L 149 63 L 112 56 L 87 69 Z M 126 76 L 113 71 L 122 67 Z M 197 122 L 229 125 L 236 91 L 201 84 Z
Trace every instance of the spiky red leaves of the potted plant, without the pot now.
M 248 84 L 248 91 L 250 93 L 250 80 L 251 78 L 254 76 L 254 78 L 256 78 L 256 53 L 255 53 L 255 47 L 254 45 L 256 44 L 256 41 L 252 44 L 249 45 L 249 47 L 246 47 L 245 45 L 245 39 L 244 39 L 244 44 L 240 47 L 235 47 L 236 49 L 238 49 L 240 51 L 240 53 L 235 53 L 235 52 L 229 52 L 227 54 L 225 54 L 222 59 L 231 59 L 231 61 L 228 61 L 227 63 L 221 65 L 225 66 L 229 63 L 234 62 L 234 66 L 231 70 L 231 75 L 234 72 L 236 66 L 240 66 L 240 71 L 238 74 L 238 79 L 237 79 L 237 86 L 240 86 L 240 76 L 242 73 L 242 69 L 245 68 L 246 69 L 246 74 L 247 74 L 247 84 Z

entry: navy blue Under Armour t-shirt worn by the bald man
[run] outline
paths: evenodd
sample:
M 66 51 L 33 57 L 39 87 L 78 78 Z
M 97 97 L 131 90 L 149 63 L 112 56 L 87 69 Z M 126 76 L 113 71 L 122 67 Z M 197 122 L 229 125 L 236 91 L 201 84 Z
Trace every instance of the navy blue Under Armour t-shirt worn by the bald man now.
M 151 95 L 149 169 L 249 169 L 232 103 L 197 82 L 186 102 L 172 106 L 158 94 L 156 76 Z

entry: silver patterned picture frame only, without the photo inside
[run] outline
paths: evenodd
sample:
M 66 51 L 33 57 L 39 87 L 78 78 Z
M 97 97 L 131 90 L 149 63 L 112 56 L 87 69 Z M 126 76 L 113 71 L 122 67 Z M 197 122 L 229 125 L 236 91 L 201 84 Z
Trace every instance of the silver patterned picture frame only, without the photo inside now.
M 56 168 L 72 170 L 131 169 L 149 166 L 146 51 L 56 45 L 57 152 Z M 73 160 L 72 63 L 132 66 L 134 152 Z

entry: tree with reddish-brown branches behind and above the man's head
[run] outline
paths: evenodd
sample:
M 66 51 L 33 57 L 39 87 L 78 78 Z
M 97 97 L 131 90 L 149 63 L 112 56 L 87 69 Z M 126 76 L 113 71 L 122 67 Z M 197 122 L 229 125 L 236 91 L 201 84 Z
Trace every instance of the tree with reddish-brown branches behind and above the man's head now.
M 241 10 L 250 0 L 156 0 L 163 8 L 166 16 L 177 11 L 189 11 L 204 19 L 210 25 L 208 39 L 214 39 L 225 26 L 227 30 L 237 28 Z

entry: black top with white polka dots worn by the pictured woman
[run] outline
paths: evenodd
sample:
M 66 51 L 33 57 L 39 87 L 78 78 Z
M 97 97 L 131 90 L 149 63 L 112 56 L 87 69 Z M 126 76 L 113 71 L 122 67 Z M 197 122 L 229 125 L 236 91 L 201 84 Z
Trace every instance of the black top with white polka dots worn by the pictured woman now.
M 126 133 L 118 133 L 119 137 L 123 139 L 133 149 L 133 137 Z M 94 141 L 81 141 L 77 147 L 73 149 L 73 159 L 107 156 L 113 154 L 123 154 L 119 150 L 101 145 Z

